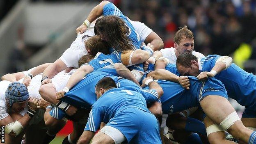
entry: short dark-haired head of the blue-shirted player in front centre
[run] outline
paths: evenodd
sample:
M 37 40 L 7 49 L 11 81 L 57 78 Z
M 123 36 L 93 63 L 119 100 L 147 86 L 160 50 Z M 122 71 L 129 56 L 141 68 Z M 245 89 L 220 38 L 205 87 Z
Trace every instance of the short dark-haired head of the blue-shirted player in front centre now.
M 96 94 L 97 98 L 99 98 L 107 90 L 116 88 L 116 87 L 117 87 L 117 84 L 112 78 L 105 77 L 105 78 L 102 78 L 100 81 L 98 81 L 98 83 L 95 87 L 95 94 Z

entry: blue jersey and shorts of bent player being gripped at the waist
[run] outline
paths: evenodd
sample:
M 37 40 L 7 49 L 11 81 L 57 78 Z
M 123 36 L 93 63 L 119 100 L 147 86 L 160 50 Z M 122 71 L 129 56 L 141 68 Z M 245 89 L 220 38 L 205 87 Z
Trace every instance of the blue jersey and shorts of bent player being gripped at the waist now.
M 225 87 L 219 80 L 209 78 L 206 81 L 199 81 L 196 77 L 188 76 L 188 78 L 190 80 L 189 90 L 175 82 L 158 80 L 158 84 L 164 91 L 160 98 L 163 113 L 172 114 L 190 107 L 200 106 L 199 102 L 208 95 L 227 98 Z

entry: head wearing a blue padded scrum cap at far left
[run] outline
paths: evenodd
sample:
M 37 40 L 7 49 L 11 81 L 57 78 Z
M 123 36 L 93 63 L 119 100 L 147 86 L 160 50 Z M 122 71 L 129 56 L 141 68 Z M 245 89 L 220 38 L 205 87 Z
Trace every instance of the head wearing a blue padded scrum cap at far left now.
M 6 103 L 15 112 L 21 112 L 29 99 L 27 87 L 20 82 L 12 82 L 5 92 Z

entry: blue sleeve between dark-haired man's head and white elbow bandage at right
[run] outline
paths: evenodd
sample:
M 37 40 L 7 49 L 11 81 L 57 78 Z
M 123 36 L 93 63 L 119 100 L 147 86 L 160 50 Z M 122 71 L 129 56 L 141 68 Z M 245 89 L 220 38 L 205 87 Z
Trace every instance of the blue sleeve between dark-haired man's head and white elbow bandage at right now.
M 207 57 L 201 59 L 202 70 L 211 71 L 219 57 L 219 55 L 208 55 Z

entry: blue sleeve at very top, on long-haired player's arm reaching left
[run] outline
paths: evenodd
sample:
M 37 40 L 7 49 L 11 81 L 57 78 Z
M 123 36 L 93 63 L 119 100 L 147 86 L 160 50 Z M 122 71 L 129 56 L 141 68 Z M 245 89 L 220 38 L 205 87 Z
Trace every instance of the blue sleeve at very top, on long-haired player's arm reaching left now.
M 126 18 L 126 16 L 124 16 L 123 13 L 111 2 L 103 7 L 103 16 L 118 16 Z

